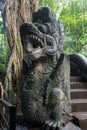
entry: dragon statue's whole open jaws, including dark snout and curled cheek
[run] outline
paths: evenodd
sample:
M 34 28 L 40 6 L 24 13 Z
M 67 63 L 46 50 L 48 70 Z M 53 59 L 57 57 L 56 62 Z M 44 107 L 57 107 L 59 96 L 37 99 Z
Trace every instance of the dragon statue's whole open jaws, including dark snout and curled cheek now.
M 57 51 L 54 38 L 41 32 L 36 25 L 25 23 L 20 30 L 21 35 L 26 36 L 26 42 L 23 42 L 26 57 L 36 60 L 46 54 L 53 55 Z

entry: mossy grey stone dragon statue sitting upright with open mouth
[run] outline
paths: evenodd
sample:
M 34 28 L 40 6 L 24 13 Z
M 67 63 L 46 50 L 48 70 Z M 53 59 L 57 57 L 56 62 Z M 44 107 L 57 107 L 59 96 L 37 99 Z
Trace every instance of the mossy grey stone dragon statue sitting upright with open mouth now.
M 23 115 L 28 128 L 61 130 L 66 111 L 70 112 L 69 60 L 63 53 L 63 24 L 56 21 L 48 7 L 35 12 L 32 21 L 20 26 L 24 49 Z

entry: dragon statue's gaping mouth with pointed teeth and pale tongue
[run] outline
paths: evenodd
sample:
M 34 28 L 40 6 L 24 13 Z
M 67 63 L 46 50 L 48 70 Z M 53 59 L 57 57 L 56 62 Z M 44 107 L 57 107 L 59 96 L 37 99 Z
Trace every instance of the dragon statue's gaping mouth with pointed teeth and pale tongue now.
M 26 55 L 30 59 L 38 59 L 42 55 L 44 48 L 44 42 L 36 35 L 29 35 L 27 37 Z

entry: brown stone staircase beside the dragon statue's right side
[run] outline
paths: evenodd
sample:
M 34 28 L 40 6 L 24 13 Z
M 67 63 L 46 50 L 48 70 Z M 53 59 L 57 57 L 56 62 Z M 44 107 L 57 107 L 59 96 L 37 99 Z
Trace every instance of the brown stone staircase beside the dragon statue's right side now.
M 81 77 L 71 77 L 70 80 L 73 123 L 87 130 L 87 82 Z

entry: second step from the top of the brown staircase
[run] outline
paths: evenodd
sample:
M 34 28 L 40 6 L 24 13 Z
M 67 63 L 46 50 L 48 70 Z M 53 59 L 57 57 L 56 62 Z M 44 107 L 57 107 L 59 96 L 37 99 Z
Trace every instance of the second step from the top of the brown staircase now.
M 70 83 L 71 89 L 77 89 L 77 88 L 87 88 L 87 83 L 85 82 L 71 82 Z

